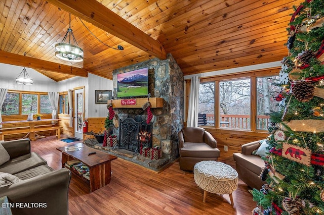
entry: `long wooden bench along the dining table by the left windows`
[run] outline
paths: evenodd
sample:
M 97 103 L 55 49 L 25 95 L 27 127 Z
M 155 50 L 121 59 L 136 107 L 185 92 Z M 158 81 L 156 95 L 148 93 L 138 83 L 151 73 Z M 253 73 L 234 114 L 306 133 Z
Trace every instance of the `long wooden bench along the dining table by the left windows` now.
M 63 128 L 63 126 L 52 126 L 52 125 L 36 125 L 34 128 L 29 128 L 28 126 L 15 127 L 15 128 L 0 128 L 0 140 L 5 140 L 5 135 L 28 133 L 23 138 L 26 138 L 29 135 L 29 139 L 31 141 L 34 141 L 37 138 L 44 137 L 44 136 L 38 135 L 36 132 L 50 131 L 50 130 L 56 130 L 55 135 L 57 138 L 60 138 L 62 128 Z

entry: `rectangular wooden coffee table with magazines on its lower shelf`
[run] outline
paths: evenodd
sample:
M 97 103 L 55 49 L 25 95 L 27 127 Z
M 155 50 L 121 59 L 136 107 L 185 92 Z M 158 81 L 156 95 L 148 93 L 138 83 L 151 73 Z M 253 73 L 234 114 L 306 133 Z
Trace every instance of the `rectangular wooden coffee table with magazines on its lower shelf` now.
M 66 151 L 71 146 L 82 146 L 77 151 Z M 68 160 L 77 159 L 89 167 L 90 179 L 86 179 L 83 176 L 78 175 L 71 170 L 72 174 L 77 178 L 84 180 L 87 184 L 90 184 L 90 192 L 93 192 L 110 183 L 111 179 L 111 160 L 117 159 L 116 156 L 90 148 L 82 143 L 74 144 L 66 147 L 56 148 L 62 152 L 62 168 L 66 167 L 64 164 Z M 91 152 L 95 154 L 88 155 Z

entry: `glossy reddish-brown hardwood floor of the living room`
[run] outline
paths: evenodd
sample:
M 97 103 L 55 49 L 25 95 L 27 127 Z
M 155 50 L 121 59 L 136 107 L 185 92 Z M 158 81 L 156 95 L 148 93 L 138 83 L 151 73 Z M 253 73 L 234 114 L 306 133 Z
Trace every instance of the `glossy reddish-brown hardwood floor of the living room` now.
M 32 141 L 31 149 L 57 170 L 61 168 L 61 152 L 56 148 L 74 143 L 50 136 Z M 111 162 L 111 170 L 111 183 L 90 194 L 72 177 L 69 214 L 251 214 L 256 206 L 248 186 L 240 180 L 233 192 L 233 206 L 228 195 L 212 193 L 204 203 L 204 191 L 195 184 L 193 173 L 181 171 L 178 162 L 155 173 L 117 158 Z

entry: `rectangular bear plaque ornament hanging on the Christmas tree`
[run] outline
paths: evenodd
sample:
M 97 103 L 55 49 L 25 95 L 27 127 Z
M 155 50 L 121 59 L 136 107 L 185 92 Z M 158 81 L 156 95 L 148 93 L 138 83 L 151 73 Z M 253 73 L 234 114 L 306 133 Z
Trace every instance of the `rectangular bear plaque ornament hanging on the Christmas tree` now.
M 301 163 L 306 166 L 310 166 L 311 150 L 302 148 L 296 145 L 284 143 L 282 144 L 282 155 L 295 162 Z

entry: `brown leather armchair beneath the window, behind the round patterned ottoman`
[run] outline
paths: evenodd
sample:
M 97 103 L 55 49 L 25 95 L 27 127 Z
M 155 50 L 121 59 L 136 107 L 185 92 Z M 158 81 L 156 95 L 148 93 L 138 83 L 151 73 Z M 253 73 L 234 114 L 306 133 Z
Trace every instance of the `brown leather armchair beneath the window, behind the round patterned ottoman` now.
M 203 128 L 183 128 L 178 133 L 180 170 L 193 171 L 203 160 L 217 160 L 219 149 L 214 137 Z

